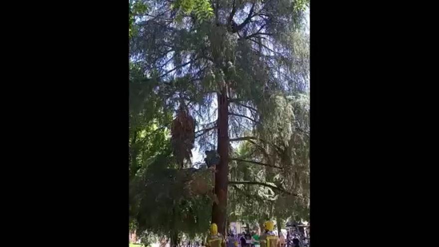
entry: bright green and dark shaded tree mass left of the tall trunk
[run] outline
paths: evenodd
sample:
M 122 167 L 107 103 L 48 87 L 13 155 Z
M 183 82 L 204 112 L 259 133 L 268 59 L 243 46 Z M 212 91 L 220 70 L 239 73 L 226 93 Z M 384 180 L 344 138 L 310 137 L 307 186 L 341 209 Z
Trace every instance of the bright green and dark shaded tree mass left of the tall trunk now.
M 139 71 L 131 66 L 130 228 L 145 245 L 154 237 L 165 237 L 177 246 L 182 235 L 193 239 L 209 227 L 215 200 L 211 172 L 183 169 L 182 161 L 188 157 L 179 153 L 179 147 L 187 144 L 172 139 L 181 137 L 177 132 L 186 134 L 178 128 L 187 128 L 185 118 L 191 118 L 180 111 L 173 120 L 172 112 L 163 107 L 163 98 L 150 93 L 156 85 Z

